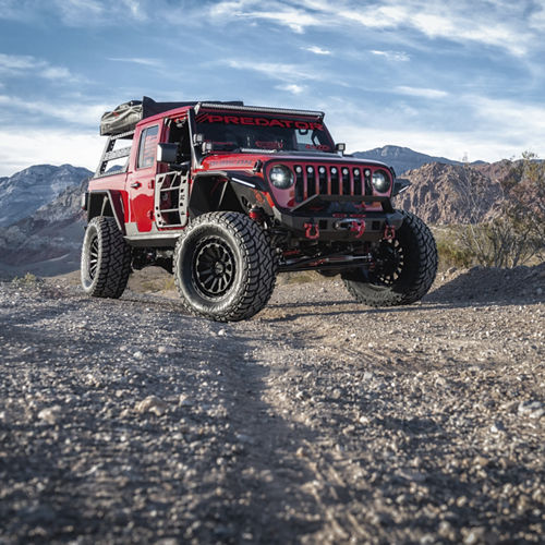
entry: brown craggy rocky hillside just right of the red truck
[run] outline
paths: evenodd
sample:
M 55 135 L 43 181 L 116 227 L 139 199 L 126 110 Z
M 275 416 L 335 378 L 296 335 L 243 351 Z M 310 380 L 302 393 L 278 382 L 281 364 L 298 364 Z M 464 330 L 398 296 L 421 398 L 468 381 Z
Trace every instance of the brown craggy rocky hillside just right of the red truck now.
M 510 162 L 460 166 L 434 162 L 404 173 L 412 185 L 396 206 L 414 211 L 428 223 L 471 223 L 483 218 L 502 198 L 499 180 Z

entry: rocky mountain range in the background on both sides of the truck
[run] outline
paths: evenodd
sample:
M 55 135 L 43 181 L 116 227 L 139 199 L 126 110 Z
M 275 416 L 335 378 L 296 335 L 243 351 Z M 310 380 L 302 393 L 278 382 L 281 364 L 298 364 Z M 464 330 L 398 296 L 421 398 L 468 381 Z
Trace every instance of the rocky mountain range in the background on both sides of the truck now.
M 396 197 L 396 206 L 415 210 L 429 223 L 483 219 L 501 198 L 498 180 L 510 165 L 463 165 L 398 146 L 353 155 L 403 173 L 412 185 Z M 51 276 L 78 268 L 85 226 L 80 198 L 92 175 L 70 165 L 39 165 L 0 178 L 0 277 L 25 271 Z M 484 191 L 470 211 L 468 195 L 475 186 Z

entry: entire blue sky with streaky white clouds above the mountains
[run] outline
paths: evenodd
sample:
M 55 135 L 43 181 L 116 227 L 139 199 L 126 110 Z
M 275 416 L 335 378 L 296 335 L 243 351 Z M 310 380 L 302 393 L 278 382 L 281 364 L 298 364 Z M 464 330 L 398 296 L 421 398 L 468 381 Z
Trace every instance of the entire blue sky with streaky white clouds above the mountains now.
M 0 0 L 0 175 L 95 169 L 118 104 L 320 109 L 337 142 L 545 156 L 545 0 Z

